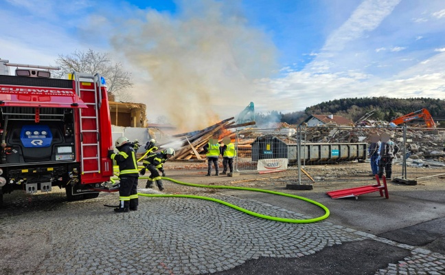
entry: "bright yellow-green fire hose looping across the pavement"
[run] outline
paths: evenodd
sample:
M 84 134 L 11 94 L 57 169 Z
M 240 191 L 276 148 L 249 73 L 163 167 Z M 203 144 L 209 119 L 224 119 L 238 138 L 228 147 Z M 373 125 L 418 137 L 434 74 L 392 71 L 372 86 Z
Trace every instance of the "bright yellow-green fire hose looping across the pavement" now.
M 143 179 L 143 178 L 148 178 L 148 177 L 139 177 L 139 179 Z M 262 219 L 269 219 L 272 221 L 281 221 L 284 223 L 315 223 L 317 221 L 322 221 L 323 219 L 328 218 L 329 214 L 330 214 L 329 209 L 317 201 L 312 201 L 312 199 L 308 199 L 305 197 L 299 197 L 297 195 L 290 195 L 290 194 L 286 194 L 283 192 L 275 192 L 275 191 L 269 191 L 269 190 L 258 189 L 258 188 L 246 188 L 246 187 L 236 187 L 236 186 L 218 186 L 218 185 L 209 186 L 209 185 L 203 185 L 203 184 L 190 184 L 187 182 L 178 181 L 176 179 L 170 179 L 169 177 L 162 177 L 162 179 L 167 179 L 167 180 L 172 181 L 176 184 L 183 184 L 183 185 L 187 185 L 187 186 L 194 186 L 194 187 L 201 187 L 201 188 L 248 190 L 248 191 L 255 191 L 255 192 L 264 192 L 264 193 L 269 193 L 269 194 L 273 194 L 273 195 L 280 195 L 280 196 L 285 196 L 285 197 L 292 197 L 294 199 L 301 199 L 303 201 L 308 201 L 309 203 L 313 203 L 316 206 L 319 206 L 320 208 L 325 210 L 325 214 L 323 214 L 323 216 L 321 216 L 321 217 L 317 217 L 317 218 L 313 218 L 313 219 L 286 219 L 286 218 L 267 216 L 265 214 L 259 214 L 259 213 L 241 208 L 240 206 L 236 206 L 231 203 L 228 203 L 227 201 L 223 201 L 220 199 L 214 199 L 212 197 L 204 197 L 204 196 L 196 196 L 196 195 L 175 195 L 175 194 L 171 194 L 171 195 L 169 195 L 169 194 L 165 194 L 165 195 L 164 194 L 144 194 L 144 193 L 140 193 L 140 192 L 137 193 L 137 195 L 143 196 L 143 197 L 186 197 L 186 198 L 191 198 L 191 199 L 205 199 L 207 201 L 214 201 L 217 203 L 221 203 L 225 206 L 229 206 L 233 209 L 240 210 L 241 212 L 250 214 L 254 217 L 259 217 Z

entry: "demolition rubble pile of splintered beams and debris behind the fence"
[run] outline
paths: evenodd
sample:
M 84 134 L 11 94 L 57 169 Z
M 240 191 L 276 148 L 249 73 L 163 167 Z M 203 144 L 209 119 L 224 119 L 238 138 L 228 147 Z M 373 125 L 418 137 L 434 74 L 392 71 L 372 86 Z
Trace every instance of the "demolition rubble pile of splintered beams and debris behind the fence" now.
M 181 148 L 176 148 L 176 155 L 172 159 L 202 161 L 205 162 L 205 153 L 203 146 L 207 144 L 210 137 L 218 135 L 218 141 L 222 142 L 224 137 L 230 137 L 232 142 L 236 139 L 236 132 L 233 129 L 254 125 L 255 122 L 244 124 L 235 124 L 231 122 L 233 118 L 223 120 L 209 126 L 201 131 L 182 133 L 173 135 L 179 138 L 182 144 Z M 338 126 L 326 124 L 316 127 L 301 127 L 302 142 L 315 143 L 370 143 L 369 137 L 378 133 L 388 133 L 391 139 L 402 145 L 403 131 L 401 129 L 391 129 L 387 127 L 369 128 L 361 126 Z M 277 129 L 271 131 L 258 131 L 258 129 L 244 129 L 242 135 L 238 136 L 237 148 L 238 157 L 251 156 L 251 144 L 261 135 L 274 135 L 286 144 L 296 144 L 298 141 L 297 126 L 286 123 L 277 124 Z M 407 155 L 408 163 L 415 166 L 445 165 L 445 131 L 443 129 L 415 129 L 409 128 L 407 131 Z M 400 146 L 402 148 L 402 146 Z M 398 154 L 402 159 L 403 150 Z

